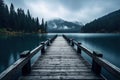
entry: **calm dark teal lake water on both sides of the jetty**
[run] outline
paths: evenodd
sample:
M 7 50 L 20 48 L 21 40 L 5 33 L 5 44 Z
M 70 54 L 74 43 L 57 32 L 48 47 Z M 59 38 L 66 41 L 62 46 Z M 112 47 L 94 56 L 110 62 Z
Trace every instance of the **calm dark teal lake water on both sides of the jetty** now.
M 0 72 L 19 59 L 19 54 L 24 50 L 32 50 L 55 34 L 34 34 L 20 36 L 0 36 Z M 59 34 L 61 35 L 61 34 Z M 103 58 L 120 68 L 120 34 L 76 34 L 68 33 L 68 37 L 80 41 L 82 45 L 91 51 L 103 54 Z M 83 52 L 83 57 L 91 62 L 91 59 Z M 108 76 L 103 70 L 103 74 Z M 112 77 L 108 79 L 112 80 Z

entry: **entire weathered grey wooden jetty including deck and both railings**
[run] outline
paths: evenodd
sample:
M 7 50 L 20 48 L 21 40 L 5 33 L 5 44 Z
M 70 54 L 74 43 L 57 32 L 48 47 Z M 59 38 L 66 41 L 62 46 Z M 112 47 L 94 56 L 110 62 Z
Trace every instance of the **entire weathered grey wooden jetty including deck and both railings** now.
M 53 42 L 53 43 L 52 43 Z M 51 44 L 50 44 L 51 43 Z M 72 46 L 77 46 L 77 50 Z M 45 49 L 45 47 L 47 49 Z M 30 59 L 41 50 L 41 56 L 31 66 Z M 80 54 L 86 52 L 92 59 L 89 64 Z M 20 59 L 0 74 L 0 80 L 13 80 L 21 70 L 19 80 L 104 80 L 101 68 L 120 78 L 120 69 L 102 58 L 102 54 L 90 52 L 81 43 L 65 35 L 54 36 L 42 42 L 32 51 L 24 51 Z

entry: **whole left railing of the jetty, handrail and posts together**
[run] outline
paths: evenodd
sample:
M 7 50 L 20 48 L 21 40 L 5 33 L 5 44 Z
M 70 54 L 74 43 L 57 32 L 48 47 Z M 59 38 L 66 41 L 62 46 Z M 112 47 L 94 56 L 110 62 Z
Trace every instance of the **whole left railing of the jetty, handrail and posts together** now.
M 27 50 L 22 52 L 20 59 L 0 74 L 0 80 L 13 80 L 19 70 L 21 70 L 23 76 L 29 74 L 31 71 L 31 58 L 40 50 L 41 55 L 44 54 L 45 46 L 50 46 L 50 43 L 52 43 L 56 37 L 57 35 L 45 42 L 41 42 L 41 44 L 32 51 Z

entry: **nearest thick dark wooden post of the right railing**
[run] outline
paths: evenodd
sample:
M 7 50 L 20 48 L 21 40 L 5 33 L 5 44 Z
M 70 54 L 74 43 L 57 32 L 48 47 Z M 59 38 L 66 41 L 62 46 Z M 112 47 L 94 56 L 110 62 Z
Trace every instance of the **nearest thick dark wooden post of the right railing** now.
M 93 55 L 95 57 L 103 57 L 103 54 L 97 54 L 96 52 L 93 51 Z M 97 75 L 100 75 L 101 73 L 101 66 L 93 59 L 92 60 L 92 70 L 95 72 Z

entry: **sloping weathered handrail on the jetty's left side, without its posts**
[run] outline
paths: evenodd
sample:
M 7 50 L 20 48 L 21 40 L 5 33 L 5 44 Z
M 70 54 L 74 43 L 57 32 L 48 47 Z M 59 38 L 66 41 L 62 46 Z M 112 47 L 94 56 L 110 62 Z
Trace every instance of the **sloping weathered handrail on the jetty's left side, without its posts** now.
M 22 69 L 23 66 L 25 66 L 27 64 L 27 62 L 38 52 L 40 51 L 42 48 L 44 48 L 44 46 L 48 45 L 49 42 L 52 42 L 55 38 L 57 37 L 57 35 L 55 35 L 53 38 L 48 39 L 47 41 L 44 42 L 44 44 L 40 44 L 38 47 L 36 47 L 35 49 L 31 50 L 31 51 L 25 51 L 25 53 L 29 53 L 26 57 L 21 57 L 20 59 L 18 59 L 15 63 L 13 63 L 13 65 L 11 65 L 10 67 L 8 67 L 6 70 L 4 70 L 1 74 L 0 74 L 0 80 L 12 80 L 14 75 L 17 73 L 18 70 Z M 23 52 L 24 53 L 24 52 Z

